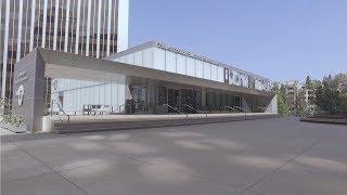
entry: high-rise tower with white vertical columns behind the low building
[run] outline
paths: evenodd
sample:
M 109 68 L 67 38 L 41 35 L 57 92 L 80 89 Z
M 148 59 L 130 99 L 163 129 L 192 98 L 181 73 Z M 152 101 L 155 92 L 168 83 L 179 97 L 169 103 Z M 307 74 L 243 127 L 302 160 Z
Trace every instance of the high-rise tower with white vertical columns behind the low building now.
M 129 0 L 1 0 L 0 15 L 1 98 L 35 48 L 97 58 L 128 49 Z

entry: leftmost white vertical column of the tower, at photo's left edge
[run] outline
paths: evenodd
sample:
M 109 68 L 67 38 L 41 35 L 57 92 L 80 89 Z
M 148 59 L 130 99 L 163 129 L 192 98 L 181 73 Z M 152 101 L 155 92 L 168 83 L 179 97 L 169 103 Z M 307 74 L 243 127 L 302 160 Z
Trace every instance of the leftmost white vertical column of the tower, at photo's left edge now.
M 7 0 L 5 18 L 4 18 L 4 41 L 3 41 L 3 66 L 2 66 L 2 86 L 1 98 L 5 98 L 7 77 L 8 77 L 8 46 L 9 46 L 9 24 L 10 24 L 10 1 Z

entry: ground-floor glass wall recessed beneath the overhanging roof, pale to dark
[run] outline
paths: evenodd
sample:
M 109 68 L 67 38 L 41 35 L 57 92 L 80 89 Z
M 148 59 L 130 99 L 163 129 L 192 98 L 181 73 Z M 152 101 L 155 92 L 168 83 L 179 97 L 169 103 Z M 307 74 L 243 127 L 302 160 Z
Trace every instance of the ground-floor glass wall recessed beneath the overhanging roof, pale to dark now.
M 51 100 L 69 115 L 229 113 L 230 107 L 243 107 L 241 94 L 232 92 L 156 83 L 155 79 L 142 83 L 127 80 L 126 76 L 110 81 L 53 78 Z M 48 104 L 47 109 L 60 112 L 55 104 Z

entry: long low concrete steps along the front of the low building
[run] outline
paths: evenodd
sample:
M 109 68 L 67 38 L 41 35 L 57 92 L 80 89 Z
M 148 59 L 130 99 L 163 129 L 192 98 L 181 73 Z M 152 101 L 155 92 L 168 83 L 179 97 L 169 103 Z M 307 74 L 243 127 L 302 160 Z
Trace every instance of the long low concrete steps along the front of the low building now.
M 95 131 L 115 131 L 127 129 L 159 128 L 172 126 L 192 126 L 213 122 L 255 120 L 279 117 L 273 114 L 192 114 L 192 115 L 124 115 L 127 117 L 103 117 L 102 119 L 72 117 L 69 123 L 64 120 L 52 120 L 52 131 L 57 133 L 79 133 Z M 137 117 L 138 116 L 138 117 Z

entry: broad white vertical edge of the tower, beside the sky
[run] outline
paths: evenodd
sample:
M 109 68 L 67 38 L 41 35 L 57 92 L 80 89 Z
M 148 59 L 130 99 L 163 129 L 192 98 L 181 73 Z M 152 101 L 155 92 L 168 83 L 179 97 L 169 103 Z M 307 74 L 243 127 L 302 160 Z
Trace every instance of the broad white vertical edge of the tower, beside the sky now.
M 117 52 L 128 49 L 129 41 L 129 0 L 118 0 Z

